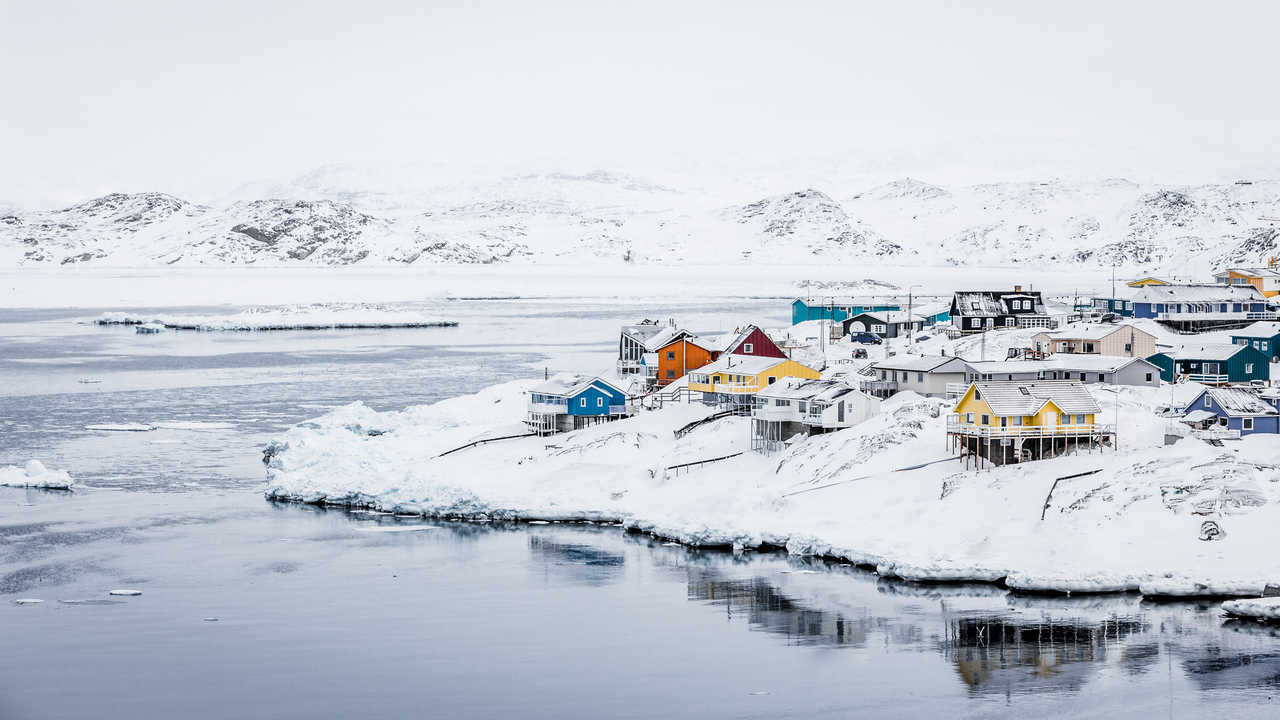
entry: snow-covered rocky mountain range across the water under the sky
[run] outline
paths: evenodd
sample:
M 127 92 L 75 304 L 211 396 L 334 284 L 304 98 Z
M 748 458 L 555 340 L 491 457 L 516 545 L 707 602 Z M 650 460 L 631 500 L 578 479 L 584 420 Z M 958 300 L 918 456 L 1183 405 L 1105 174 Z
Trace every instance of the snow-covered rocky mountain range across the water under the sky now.
M 1277 181 L 753 187 L 596 172 L 389 188 L 321 169 L 207 205 L 141 192 L 9 210 L 0 264 L 1071 263 L 1202 277 L 1280 254 Z

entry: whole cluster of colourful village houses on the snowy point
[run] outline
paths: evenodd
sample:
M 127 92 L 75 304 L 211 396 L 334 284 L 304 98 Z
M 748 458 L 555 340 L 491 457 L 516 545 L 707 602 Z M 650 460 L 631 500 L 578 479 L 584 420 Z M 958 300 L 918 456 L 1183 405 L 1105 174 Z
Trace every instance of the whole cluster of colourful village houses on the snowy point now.
M 797 297 L 788 328 L 744 322 L 718 336 L 643 319 L 621 328 L 614 368 L 559 373 L 532 388 L 525 423 L 550 436 L 701 404 L 709 413 L 694 425 L 750 416 L 750 448 L 773 454 L 916 393 L 945 400 L 940 443 L 980 469 L 1116 448 L 1124 428 L 1098 392 L 1139 386 L 1167 389 L 1151 407 L 1166 443 L 1280 434 L 1275 264 L 1119 287 L 1087 299 L 1030 286 Z

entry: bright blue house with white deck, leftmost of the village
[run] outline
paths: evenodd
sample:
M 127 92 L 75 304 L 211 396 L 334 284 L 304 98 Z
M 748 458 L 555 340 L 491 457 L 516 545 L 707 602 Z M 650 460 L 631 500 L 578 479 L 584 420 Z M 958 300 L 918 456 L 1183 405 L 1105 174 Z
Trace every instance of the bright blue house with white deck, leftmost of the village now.
M 598 375 L 562 373 L 529 391 L 525 424 L 538 434 L 564 433 L 634 414 L 626 391 Z

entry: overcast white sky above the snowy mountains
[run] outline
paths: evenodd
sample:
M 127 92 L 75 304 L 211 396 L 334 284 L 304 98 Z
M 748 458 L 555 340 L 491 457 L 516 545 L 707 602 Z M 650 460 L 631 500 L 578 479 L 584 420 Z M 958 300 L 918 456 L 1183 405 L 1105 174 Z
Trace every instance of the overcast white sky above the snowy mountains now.
M 1276 176 L 1280 4 L 0 0 L 0 204 L 329 163 Z

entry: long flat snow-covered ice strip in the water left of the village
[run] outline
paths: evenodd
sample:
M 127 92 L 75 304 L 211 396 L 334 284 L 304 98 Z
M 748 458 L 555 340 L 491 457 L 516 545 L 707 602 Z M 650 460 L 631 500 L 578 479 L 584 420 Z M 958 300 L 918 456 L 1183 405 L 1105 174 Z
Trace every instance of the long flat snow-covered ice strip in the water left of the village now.
M 329 331 L 457 325 L 453 320 L 385 305 L 339 304 L 251 307 L 233 315 L 104 313 L 93 323 L 99 325 L 138 325 L 138 332 L 159 332 L 157 328 L 182 331 Z

